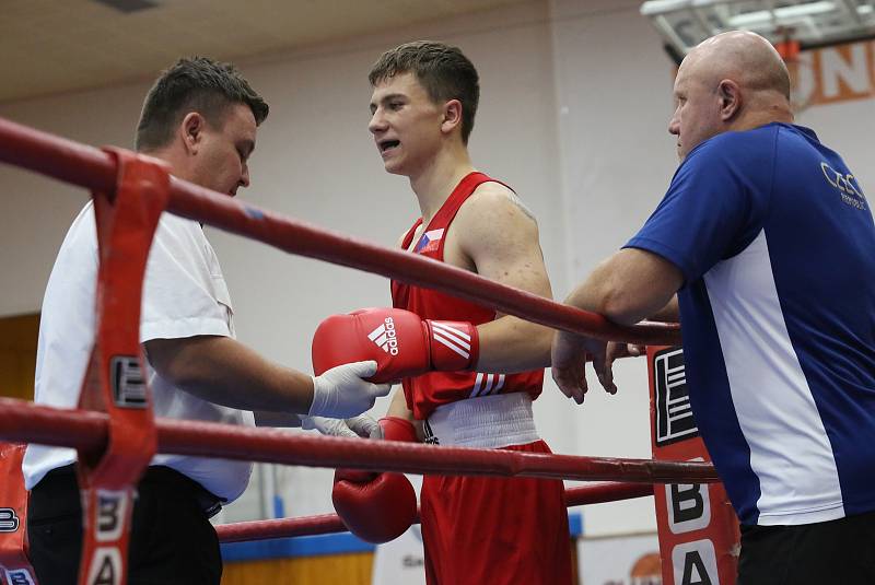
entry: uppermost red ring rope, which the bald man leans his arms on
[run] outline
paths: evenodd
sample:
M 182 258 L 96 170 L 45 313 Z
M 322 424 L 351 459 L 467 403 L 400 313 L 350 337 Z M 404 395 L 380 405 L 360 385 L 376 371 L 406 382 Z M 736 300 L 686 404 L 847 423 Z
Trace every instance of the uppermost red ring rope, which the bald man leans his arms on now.
M 89 189 L 112 192 L 116 162 L 105 152 L 0 118 L 0 160 Z M 171 177 L 167 210 L 279 249 L 440 290 L 556 329 L 644 344 L 676 344 L 677 324 L 616 325 L 600 315 L 505 286 L 399 249 L 336 234 Z

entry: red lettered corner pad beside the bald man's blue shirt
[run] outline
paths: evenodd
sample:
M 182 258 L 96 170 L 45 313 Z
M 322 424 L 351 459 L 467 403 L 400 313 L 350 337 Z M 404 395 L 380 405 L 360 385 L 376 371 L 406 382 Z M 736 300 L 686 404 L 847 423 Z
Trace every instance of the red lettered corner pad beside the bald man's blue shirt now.
M 653 459 L 710 463 L 689 403 L 684 350 L 649 346 L 648 378 Z M 734 585 L 740 533 L 723 483 L 657 483 L 653 495 L 663 584 Z

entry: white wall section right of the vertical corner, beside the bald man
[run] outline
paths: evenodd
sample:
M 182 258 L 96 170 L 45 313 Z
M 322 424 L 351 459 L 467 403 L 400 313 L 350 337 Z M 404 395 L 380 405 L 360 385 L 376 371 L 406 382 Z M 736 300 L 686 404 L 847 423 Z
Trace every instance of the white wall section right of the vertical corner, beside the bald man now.
M 569 289 L 643 223 L 676 165 L 665 115 L 670 70 L 639 5 L 553 2 Z M 586 401 L 574 409 L 576 452 L 650 458 L 645 361 L 617 362 L 614 396 L 590 377 Z M 587 534 L 653 528 L 653 499 L 590 506 L 584 524 Z

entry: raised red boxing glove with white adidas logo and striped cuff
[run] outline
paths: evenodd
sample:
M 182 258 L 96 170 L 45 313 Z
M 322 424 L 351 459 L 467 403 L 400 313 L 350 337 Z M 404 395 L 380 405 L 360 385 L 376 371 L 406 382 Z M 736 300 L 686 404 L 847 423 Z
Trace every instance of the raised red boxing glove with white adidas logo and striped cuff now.
M 319 375 L 340 364 L 374 360 L 371 382 L 394 382 L 434 370 L 472 370 L 479 349 L 470 323 L 423 321 L 400 308 L 363 308 L 319 324 L 313 335 L 313 370 Z

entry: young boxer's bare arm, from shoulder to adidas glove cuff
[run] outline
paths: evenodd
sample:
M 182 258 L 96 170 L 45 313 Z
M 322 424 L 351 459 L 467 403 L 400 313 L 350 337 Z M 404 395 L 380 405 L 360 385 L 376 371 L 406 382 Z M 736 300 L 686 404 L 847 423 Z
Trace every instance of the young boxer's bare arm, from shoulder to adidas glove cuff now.
M 460 251 L 490 280 L 552 299 L 535 217 L 509 188 L 478 187 L 459 209 L 453 231 Z M 550 365 L 552 329 L 512 315 L 477 327 L 477 370 L 513 373 Z

